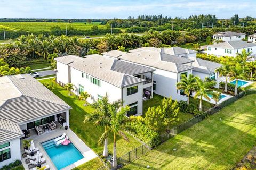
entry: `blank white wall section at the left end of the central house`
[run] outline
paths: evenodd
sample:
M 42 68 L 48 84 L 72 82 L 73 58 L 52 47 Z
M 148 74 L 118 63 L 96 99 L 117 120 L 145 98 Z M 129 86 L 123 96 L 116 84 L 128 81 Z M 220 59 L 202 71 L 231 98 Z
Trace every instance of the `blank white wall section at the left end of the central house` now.
M 56 81 L 64 84 L 69 83 L 68 65 L 57 62 Z

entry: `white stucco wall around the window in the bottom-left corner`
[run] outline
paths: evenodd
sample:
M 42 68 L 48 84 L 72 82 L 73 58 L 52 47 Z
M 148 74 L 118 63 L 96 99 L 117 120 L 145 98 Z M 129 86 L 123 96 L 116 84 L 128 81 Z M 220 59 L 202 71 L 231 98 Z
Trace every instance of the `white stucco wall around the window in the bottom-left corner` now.
M 10 148 L 10 150 L 11 150 L 11 158 L 4 160 L 3 162 L 0 162 L 0 168 L 4 165 L 14 162 L 14 160 L 17 160 L 17 159 L 21 160 L 20 139 L 19 138 L 10 141 L 10 146 L 2 148 L 2 149 L 0 149 L 0 151 L 8 149 L 8 148 Z

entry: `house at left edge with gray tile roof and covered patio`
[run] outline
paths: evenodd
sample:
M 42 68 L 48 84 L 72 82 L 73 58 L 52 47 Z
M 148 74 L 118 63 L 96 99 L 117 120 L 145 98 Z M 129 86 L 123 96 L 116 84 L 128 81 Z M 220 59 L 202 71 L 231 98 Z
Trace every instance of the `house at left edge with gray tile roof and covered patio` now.
M 0 168 L 21 159 L 22 130 L 65 117 L 71 107 L 29 74 L 0 77 Z

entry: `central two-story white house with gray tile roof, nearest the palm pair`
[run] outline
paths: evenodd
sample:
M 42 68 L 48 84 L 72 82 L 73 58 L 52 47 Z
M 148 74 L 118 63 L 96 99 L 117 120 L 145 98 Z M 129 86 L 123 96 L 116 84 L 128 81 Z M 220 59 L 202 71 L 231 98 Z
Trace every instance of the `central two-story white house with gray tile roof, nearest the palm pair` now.
M 143 99 L 153 97 L 153 72 L 150 67 L 116 60 L 98 54 L 85 58 L 69 55 L 55 58 L 57 82 L 74 84 L 74 93 L 88 92 L 93 103 L 106 94 L 109 100 L 123 100 L 131 107 L 127 116 L 142 115 Z

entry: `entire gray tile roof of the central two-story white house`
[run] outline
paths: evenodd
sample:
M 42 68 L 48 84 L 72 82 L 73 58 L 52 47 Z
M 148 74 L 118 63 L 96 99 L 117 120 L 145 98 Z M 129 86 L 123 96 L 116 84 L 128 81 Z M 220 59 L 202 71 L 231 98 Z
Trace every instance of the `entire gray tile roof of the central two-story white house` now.
M 102 81 L 106 81 L 119 88 L 131 86 L 133 84 L 145 81 L 144 79 L 134 77 L 133 73 L 139 74 L 141 71 L 143 73 L 145 73 L 145 71 L 154 71 L 154 69 L 135 64 L 131 65 L 131 63 L 127 62 L 118 62 L 114 58 L 101 56 L 98 54 L 88 55 L 86 58 L 69 55 L 55 58 L 55 60 L 64 64 L 67 63 L 67 65 L 73 67 L 74 69 L 82 71 Z

